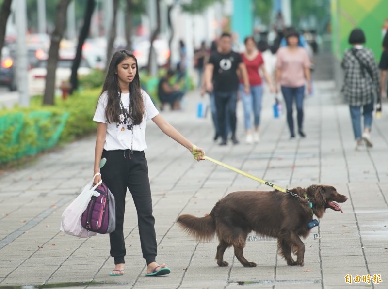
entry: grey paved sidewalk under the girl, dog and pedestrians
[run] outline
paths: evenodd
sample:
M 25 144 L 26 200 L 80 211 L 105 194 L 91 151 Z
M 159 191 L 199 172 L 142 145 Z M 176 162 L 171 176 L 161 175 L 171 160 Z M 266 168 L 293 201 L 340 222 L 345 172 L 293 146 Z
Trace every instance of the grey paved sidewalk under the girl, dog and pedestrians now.
M 29 167 L 0 176 L 0 288 L 308 288 L 364 286 L 388 288 L 388 113 L 373 123 L 374 147 L 355 151 L 348 107 L 335 96 L 334 82 L 317 81 L 305 102 L 305 139 L 289 141 L 285 116 L 274 119 L 273 97 L 265 95 L 259 144 L 243 143 L 242 104 L 238 107 L 241 144 L 213 142 L 210 115 L 196 118 L 197 91 L 183 111 L 163 116 L 207 155 L 288 188 L 330 184 L 349 197 L 344 213 L 327 210 L 305 240 L 304 267 L 287 266 L 275 240 L 248 237 L 245 256 L 258 263 L 243 268 L 227 249 L 229 267 L 218 267 L 217 241 L 196 243 L 176 226 L 181 213 L 202 216 L 215 202 L 237 190 L 270 190 L 209 161 L 197 163 L 190 152 L 148 122 L 146 155 L 158 239 L 157 261 L 172 273 L 145 277 L 136 213 L 127 195 L 125 275 L 111 277 L 109 237 L 81 239 L 59 230 L 65 207 L 93 172 L 94 137 L 39 157 Z M 349 274 L 361 276 L 360 283 Z M 382 283 L 363 276 L 380 274 Z M 376 282 L 378 280 L 375 280 Z M 24 287 L 21 287 L 24 285 Z

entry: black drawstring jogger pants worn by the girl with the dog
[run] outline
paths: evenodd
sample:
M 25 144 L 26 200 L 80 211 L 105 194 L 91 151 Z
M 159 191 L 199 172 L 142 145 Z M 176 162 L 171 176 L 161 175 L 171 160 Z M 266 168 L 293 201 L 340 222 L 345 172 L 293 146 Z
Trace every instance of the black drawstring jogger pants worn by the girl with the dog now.
M 148 265 L 155 261 L 157 245 L 146 155 L 139 151 L 133 151 L 130 156 L 129 150 L 103 150 L 101 158 L 103 157 L 107 161 L 100 169 L 102 181 L 111 190 L 116 200 L 116 230 L 109 234 L 114 264 L 125 263 L 123 224 L 128 188 L 135 203 L 140 243 L 143 257 Z

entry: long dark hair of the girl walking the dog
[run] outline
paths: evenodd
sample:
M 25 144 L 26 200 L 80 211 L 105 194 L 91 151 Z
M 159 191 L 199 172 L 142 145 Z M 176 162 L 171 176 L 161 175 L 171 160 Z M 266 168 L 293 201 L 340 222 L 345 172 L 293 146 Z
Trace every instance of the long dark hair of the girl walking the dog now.
M 118 85 L 117 74 L 117 65 L 121 63 L 121 61 L 128 59 L 129 57 L 133 58 L 136 62 L 136 74 L 133 77 L 132 82 L 129 83 L 129 93 L 130 93 L 130 108 L 129 113 L 130 117 L 133 119 L 133 123 L 138 125 L 142 122 L 145 108 L 143 96 L 140 91 L 140 77 L 139 70 L 137 66 L 137 59 L 128 50 L 120 50 L 116 51 L 113 56 L 111 63 L 109 63 L 109 68 L 107 75 L 105 77 L 104 85 L 102 87 L 101 94 L 106 91 L 108 96 L 108 103 L 105 109 L 105 119 L 107 122 L 120 122 L 120 97 L 121 97 L 121 89 Z

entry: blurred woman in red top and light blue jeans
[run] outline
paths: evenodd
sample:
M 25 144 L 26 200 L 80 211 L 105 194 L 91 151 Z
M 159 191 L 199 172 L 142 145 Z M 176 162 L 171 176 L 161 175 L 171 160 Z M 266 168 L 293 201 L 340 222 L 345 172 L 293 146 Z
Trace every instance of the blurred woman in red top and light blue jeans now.
M 251 144 L 252 142 L 259 141 L 259 124 L 260 124 L 260 111 L 261 111 L 261 99 L 263 95 L 262 80 L 259 75 L 259 69 L 261 69 L 265 80 L 270 86 L 271 92 L 274 91 L 271 78 L 268 76 L 264 67 L 264 61 L 261 53 L 256 49 L 255 40 L 253 37 L 246 37 L 244 40 L 245 52 L 242 53 L 242 61 L 244 61 L 246 70 L 248 72 L 250 93 L 244 92 L 244 84 L 240 79 L 240 95 L 244 107 L 244 125 L 246 131 L 245 142 Z M 252 134 L 252 122 L 251 111 L 254 114 L 255 133 Z

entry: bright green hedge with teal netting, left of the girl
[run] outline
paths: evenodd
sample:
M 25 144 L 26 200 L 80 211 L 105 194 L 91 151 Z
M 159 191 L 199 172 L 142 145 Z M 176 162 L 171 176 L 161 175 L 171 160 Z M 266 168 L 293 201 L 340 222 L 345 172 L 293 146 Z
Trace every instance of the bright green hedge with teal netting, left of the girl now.
M 96 130 L 92 121 L 100 90 L 82 91 L 55 106 L 34 97 L 28 108 L 0 110 L 0 164 L 83 137 Z

